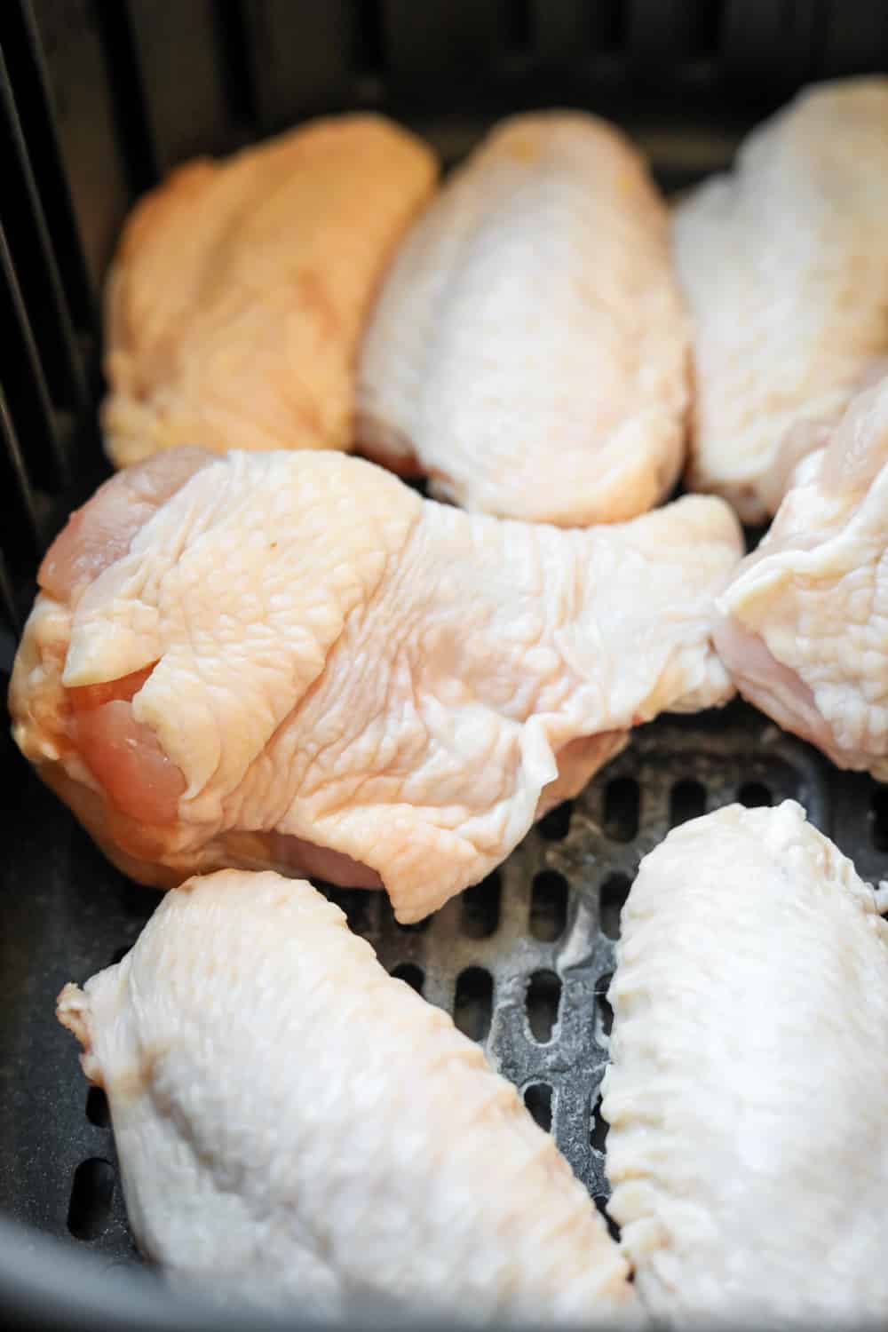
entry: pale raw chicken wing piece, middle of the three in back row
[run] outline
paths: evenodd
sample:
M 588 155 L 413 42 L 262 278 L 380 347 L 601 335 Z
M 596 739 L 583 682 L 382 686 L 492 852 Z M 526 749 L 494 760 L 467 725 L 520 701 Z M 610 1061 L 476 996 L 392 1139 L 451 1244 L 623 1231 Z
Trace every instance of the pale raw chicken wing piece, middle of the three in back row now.
M 592 116 L 517 116 L 389 269 L 358 442 L 466 509 L 632 518 L 682 466 L 688 362 L 666 209 L 638 152 Z

